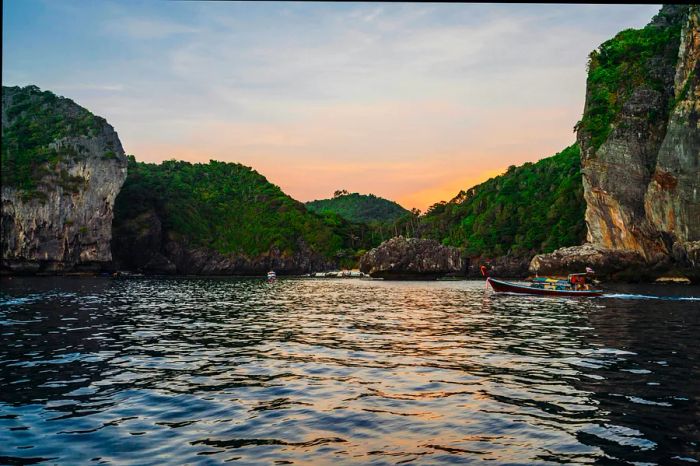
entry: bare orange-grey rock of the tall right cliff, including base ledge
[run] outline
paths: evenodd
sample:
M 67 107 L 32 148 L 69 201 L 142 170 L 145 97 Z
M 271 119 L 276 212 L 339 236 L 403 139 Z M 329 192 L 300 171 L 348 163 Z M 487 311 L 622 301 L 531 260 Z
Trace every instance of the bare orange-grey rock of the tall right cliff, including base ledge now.
M 697 5 L 664 6 L 649 27 L 683 26 L 680 40 L 669 43 L 677 49 L 667 47 L 646 62 L 656 86 L 642 80 L 620 96 L 626 100 L 600 147 L 579 128 L 591 244 L 536 256 L 532 272 L 598 263 L 602 273 L 619 277 L 628 261 L 634 277 L 700 274 L 699 15 Z M 589 89 L 586 112 L 590 97 Z

